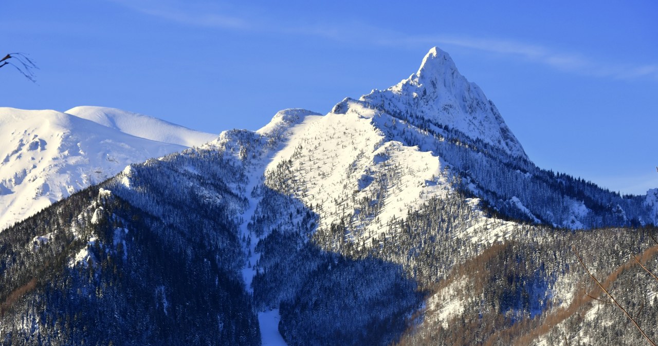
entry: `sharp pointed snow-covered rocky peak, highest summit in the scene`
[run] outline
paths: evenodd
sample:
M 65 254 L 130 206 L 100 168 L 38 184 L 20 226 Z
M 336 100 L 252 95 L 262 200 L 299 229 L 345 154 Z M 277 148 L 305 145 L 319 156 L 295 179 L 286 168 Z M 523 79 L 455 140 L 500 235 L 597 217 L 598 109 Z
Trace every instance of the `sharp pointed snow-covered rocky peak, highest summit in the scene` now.
M 451 131 L 449 137 L 470 139 L 473 144 L 484 142 L 527 159 L 493 102 L 459 74 L 452 58 L 436 47 L 425 55 L 415 74 L 386 90 L 373 90 L 360 100 L 416 126 Z

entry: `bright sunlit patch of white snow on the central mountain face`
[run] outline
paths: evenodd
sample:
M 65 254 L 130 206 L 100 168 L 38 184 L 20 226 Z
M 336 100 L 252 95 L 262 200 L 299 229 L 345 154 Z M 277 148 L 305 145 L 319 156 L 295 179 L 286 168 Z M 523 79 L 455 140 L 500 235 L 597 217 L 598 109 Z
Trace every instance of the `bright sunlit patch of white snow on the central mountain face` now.
M 377 123 L 392 123 L 392 117 L 361 102 L 345 100 L 342 104 L 344 108 L 337 106 L 326 116 L 307 115 L 289 123 L 288 141 L 276 152 L 265 174 L 293 159 L 289 173 L 297 183 L 294 194 L 305 205 L 320 207 L 320 227 L 348 217 L 353 230 L 359 232 L 353 236 L 370 240 L 409 208 L 445 194 L 447 181 L 440 159 L 432 153 L 387 141 Z M 271 128 L 268 125 L 259 133 Z M 355 201 L 364 198 L 380 204 L 376 218 L 355 209 Z

